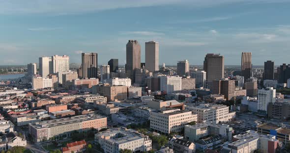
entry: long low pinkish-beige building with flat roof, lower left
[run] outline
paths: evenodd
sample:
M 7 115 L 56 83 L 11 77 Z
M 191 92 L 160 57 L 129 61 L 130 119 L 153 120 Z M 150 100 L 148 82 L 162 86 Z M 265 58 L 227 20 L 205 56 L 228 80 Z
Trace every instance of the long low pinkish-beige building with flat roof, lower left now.
M 34 142 L 70 137 L 77 130 L 83 132 L 91 128 L 107 127 L 107 118 L 97 114 L 79 115 L 70 118 L 29 124 L 29 134 Z

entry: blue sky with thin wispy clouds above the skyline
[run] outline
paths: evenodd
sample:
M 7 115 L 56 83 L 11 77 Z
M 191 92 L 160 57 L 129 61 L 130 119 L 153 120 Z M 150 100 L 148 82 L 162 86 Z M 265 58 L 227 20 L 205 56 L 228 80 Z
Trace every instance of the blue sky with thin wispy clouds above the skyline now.
M 202 65 L 221 53 L 240 65 L 290 63 L 290 0 L 0 0 L 0 65 L 38 62 L 40 56 L 97 52 L 98 64 L 126 61 L 126 43 L 160 43 L 160 64 L 188 59 Z

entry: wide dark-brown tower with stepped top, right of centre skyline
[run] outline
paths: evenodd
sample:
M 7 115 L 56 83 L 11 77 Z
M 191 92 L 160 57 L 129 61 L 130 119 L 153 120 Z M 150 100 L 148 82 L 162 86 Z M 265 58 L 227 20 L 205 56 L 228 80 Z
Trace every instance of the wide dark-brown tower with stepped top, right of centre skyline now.
M 213 80 L 224 78 L 225 73 L 225 58 L 220 54 L 208 53 L 204 57 L 203 71 L 206 72 L 207 88 L 212 88 Z

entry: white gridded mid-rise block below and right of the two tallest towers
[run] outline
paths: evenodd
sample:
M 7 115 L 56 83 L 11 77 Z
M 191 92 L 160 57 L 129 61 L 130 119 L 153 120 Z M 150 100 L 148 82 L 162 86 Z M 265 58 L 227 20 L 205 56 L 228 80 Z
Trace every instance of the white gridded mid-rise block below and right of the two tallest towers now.
M 181 78 L 179 76 L 161 76 L 160 90 L 166 91 L 167 94 L 179 92 L 182 89 Z

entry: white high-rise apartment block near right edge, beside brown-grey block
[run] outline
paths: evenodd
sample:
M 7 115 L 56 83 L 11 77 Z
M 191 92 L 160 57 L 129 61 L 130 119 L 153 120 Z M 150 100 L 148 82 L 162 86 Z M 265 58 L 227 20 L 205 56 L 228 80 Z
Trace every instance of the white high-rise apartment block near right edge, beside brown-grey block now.
M 276 100 L 276 89 L 268 87 L 258 90 L 258 112 L 267 114 L 268 104 Z

